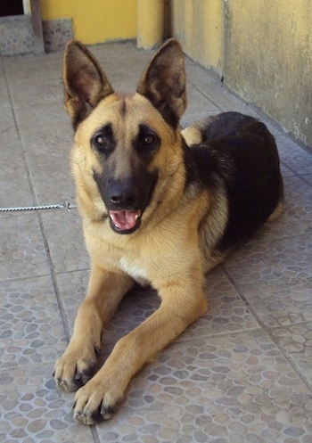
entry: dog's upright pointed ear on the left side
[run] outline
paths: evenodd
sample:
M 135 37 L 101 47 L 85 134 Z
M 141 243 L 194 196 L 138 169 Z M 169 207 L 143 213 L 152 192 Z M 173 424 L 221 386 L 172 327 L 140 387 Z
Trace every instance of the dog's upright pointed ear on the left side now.
M 78 40 L 66 46 L 63 82 L 65 109 L 75 129 L 104 97 L 114 92 L 93 54 Z

